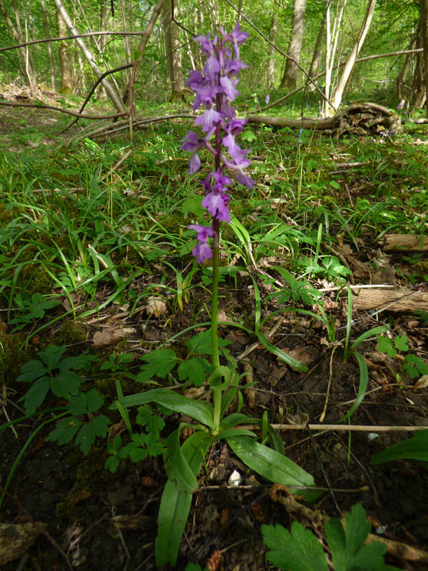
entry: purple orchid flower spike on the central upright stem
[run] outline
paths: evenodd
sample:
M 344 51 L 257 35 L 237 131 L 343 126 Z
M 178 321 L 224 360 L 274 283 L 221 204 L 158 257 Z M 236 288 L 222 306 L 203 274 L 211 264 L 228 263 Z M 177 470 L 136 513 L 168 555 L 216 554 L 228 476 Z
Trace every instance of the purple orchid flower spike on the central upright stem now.
M 220 34 L 197 36 L 195 41 L 200 44 L 206 56 L 203 73 L 198 70 L 190 71 L 186 85 L 195 93 L 193 110 L 200 106 L 204 111 L 195 119 L 195 125 L 200 126 L 205 136 L 199 137 L 194 131 L 189 131 L 183 138 L 181 148 L 193 153 L 189 163 L 189 173 L 193 174 L 200 168 L 198 152 L 205 147 L 214 156 L 215 170 L 205 181 L 205 198 L 202 201 L 212 217 L 211 226 L 191 224 L 189 228 L 196 232 L 198 245 L 193 248 L 193 256 L 198 262 L 209 260 L 213 253 L 208 244 L 209 238 L 215 238 L 218 243 L 220 222 L 230 222 L 228 186 L 232 181 L 225 175 L 226 169 L 232 171 L 235 180 L 247 188 L 253 188 L 254 181 L 245 175 L 243 169 L 250 165 L 247 158 L 251 149 L 242 149 L 235 141 L 247 122 L 246 119 L 236 118 L 236 112 L 230 105 L 238 97 L 238 74 L 240 69 L 247 66 L 239 59 L 239 48 L 248 38 L 247 32 L 240 30 L 239 23 L 230 34 L 220 27 Z M 210 139 L 214 137 L 214 143 Z M 225 151 L 222 150 L 222 145 Z

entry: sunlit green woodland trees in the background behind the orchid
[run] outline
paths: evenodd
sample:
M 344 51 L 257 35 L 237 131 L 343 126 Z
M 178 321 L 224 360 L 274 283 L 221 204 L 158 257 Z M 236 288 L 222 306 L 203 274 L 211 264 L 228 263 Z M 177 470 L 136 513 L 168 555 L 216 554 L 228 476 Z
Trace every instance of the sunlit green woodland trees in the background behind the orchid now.
M 272 102 L 272 94 L 307 83 L 323 116 L 348 94 L 365 99 L 377 89 L 394 91 L 397 104 L 421 107 L 426 10 L 425 0 L 420 8 L 410 0 L 265 0 L 263 9 L 245 0 L 240 23 L 250 39 L 241 53 L 248 69 L 240 91 L 257 108 L 268 92 Z M 232 29 L 237 18 L 230 0 L 0 0 L 0 83 L 86 96 L 102 78 L 95 95 L 109 98 L 118 113 L 136 101 L 185 97 L 187 71 L 202 61 L 193 37 Z M 70 36 L 80 37 L 58 40 Z M 56 41 L 30 44 L 49 39 Z M 386 52 L 396 55 L 370 59 Z

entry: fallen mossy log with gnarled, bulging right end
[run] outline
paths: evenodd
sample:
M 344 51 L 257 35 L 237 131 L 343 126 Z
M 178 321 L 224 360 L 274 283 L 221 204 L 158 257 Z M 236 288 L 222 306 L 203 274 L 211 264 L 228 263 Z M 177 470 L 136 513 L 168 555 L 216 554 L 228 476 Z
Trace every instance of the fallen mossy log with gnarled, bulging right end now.
M 291 127 L 305 129 L 330 129 L 337 136 L 344 133 L 383 135 L 397 133 L 401 128 L 401 119 L 377 103 L 354 103 L 340 113 L 326 118 L 287 119 L 264 115 L 248 116 L 248 123 L 265 123 L 273 127 Z

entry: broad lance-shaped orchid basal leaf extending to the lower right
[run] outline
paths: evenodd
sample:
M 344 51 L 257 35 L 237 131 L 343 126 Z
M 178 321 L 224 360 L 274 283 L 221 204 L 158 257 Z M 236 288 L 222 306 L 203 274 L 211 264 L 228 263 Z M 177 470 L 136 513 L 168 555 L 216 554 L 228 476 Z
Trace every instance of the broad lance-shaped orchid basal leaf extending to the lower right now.
M 266 480 L 285 486 L 312 487 L 315 485 L 313 477 L 300 466 L 275 450 L 255 442 L 253 438 L 233 436 L 227 440 L 238 458 Z M 304 495 L 308 501 L 314 501 L 320 495 L 315 490 L 299 489 L 296 493 Z

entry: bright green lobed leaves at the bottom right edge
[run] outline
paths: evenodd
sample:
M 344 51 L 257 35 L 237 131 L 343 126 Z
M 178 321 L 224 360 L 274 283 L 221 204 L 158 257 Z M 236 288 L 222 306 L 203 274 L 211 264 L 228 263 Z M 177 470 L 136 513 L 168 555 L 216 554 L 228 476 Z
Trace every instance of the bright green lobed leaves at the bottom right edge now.
M 325 522 L 324 530 L 335 571 L 398 571 L 385 565 L 387 551 L 381 542 L 365 545 L 370 532 L 365 509 L 352 506 L 345 515 L 346 525 L 336 518 Z M 322 544 L 310 530 L 299 522 L 292 522 L 291 533 L 282 525 L 262 525 L 263 541 L 270 548 L 266 559 L 285 571 L 327 571 L 327 559 Z

